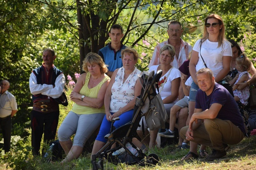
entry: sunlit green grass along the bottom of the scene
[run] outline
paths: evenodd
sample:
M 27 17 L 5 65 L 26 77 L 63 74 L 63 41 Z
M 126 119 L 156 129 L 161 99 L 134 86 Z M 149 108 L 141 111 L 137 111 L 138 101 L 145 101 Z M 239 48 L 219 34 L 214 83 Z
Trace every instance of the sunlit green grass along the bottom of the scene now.
M 9 169 L 16 170 L 91 170 L 90 153 L 85 153 L 77 160 L 68 164 L 60 165 L 60 162 L 47 164 L 41 157 L 33 158 L 29 151 L 29 146 L 22 150 L 11 151 L 1 160 L 2 169 L 6 165 L 11 166 Z M 209 148 L 207 151 L 211 153 Z M 252 170 L 256 167 L 256 136 L 244 138 L 239 144 L 232 145 L 227 151 L 227 156 L 215 161 L 205 159 L 194 159 L 180 161 L 187 150 L 176 149 L 171 145 L 165 148 L 154 148 L 148 151 L 156 153 L 160 157 L 160 164 L 154 167 L 141 167 L 139 165 L 128 166 L 125 164 L 113 165 L 104 161 L 105 170 Z M 0 168 L 1 169 L 1 168 Z

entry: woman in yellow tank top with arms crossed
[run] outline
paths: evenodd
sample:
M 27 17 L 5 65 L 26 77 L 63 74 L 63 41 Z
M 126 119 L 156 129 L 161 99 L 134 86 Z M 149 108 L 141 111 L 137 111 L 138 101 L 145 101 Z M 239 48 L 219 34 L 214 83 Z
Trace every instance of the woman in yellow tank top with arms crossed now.
M 61 164 L 77 159 L 88 138 L 100 126 L 104 117 L 104 95 L 109 84 L 108 71 L 102 58 L 96 53 L 88 53 L 83 61 L 83 70 L 70 94 L 73 108 L 63 120 L 58 130 L 58 139 L 66 158 Z M 73 143 L 70 136 L 74 135 Z

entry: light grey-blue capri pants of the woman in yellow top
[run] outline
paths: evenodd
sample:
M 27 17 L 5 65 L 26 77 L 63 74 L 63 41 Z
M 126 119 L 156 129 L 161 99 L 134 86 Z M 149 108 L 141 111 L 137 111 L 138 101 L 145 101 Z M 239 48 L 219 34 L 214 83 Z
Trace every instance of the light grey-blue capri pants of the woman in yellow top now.
M 58 139 L 68 141 L 70 136 L 75 135 L 73 146 L 84 147 L 88 138 L 100 126 L 104 113 L 76 114 L 69 112 L 58 130 Z

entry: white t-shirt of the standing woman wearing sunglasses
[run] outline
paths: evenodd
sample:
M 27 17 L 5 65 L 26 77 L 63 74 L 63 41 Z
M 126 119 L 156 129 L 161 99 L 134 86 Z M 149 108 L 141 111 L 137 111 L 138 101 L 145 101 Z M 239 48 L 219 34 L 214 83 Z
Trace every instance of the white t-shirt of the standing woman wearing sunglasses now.
M 214 77 L 219 74 L 220 70 L 223 69 L 223 56 L 232 57 L 232 48 L 230 42 L 224 40 L 221 47 L 218 47 L 218 42 L 210 42 L 208 39 L 202 43 L 201 55 L 200 55 L 200 40 L 194 44 L 193 50 L 198 52 L 198 63 L 196 64 L 196 71 L 205 68 L 206 66 L 212 70 Z

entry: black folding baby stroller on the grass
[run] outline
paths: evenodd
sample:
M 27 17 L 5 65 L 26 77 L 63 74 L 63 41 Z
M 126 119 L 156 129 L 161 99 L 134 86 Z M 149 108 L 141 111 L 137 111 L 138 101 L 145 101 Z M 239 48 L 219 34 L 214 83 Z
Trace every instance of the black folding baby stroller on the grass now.
M 158 87 L 159 79 L 162 75 L 162 71 L 159 70 L 156 74 L 154 71 L 148 73 L 148 75 L 143 72 L 141 81 L 143 89 L 141 90 L 141 95 L 136 98 L 136 104 L 134 106 L 133 120 L 125 125 L 114 129 L 113 123 L 119 120 L 119 117 L 112 119 L 112 126 L 110 133 L 105 136 L 107 143 L 100 149 L 95 155 L 92 155 L 92 166 L 93 170 L 103 170 L 104 164 L 103 159 L 112 162 L 117 165 L 118 163 L 126 163 L 128 165 L 139 164 L 141 166 L 145 165 L 156 165 L 159 163 L 159 157 L 152 153 L 146 156 L 146 154 L 138 149 L 133 143 L 132 139 L 137 135 L 137 128 L 141 117 L 144 115 L 141 109 L 145 109 L 144 102 L 149 95 L 157 95 L 156 87 Z M 148 100 L 147 100 L 148 101 Z M 112 145 L 116 146 L 113 148 Z M 112 147 L 112 149 L 111 149 Z M 96 161 L 98 159 L 98 161 Z

